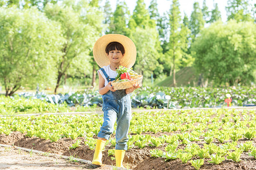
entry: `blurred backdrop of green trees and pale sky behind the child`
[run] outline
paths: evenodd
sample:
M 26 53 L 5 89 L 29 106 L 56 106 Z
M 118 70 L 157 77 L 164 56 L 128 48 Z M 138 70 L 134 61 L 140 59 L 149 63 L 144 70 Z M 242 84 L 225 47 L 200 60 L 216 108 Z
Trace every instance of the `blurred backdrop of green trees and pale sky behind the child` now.
M 97 89 L 92 48 L 108 33 L 137 46 L 145 87 L 255 90 L 252 0 L 1 0 L 0 93 Z

